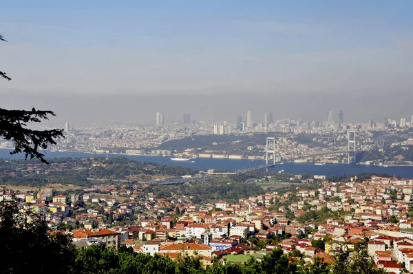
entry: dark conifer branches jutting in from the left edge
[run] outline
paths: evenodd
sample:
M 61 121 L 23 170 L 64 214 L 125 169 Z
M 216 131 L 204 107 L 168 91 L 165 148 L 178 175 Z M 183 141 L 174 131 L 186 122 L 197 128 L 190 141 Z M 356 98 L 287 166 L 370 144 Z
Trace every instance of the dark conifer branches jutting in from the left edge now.
M 0 35 L 1 41 L 6 41 Z M 6 72 L 0 71 L 0 78 L 10 81 L 12 78 Z M 54 138 L 64 137 L 63 129 L 33 130 L 28 128 L 29 123 L 39 123 L 47 116 L 55 116 L 50 110 L 8 110 L 0 108 L 0 136 L 5 140 L 12 140 L 14 151 L 10 154 L 25 153 L 25 158 L 30 156 L 47 163 L 39 149 L 47 149 L 48 144 L 56 145 Z

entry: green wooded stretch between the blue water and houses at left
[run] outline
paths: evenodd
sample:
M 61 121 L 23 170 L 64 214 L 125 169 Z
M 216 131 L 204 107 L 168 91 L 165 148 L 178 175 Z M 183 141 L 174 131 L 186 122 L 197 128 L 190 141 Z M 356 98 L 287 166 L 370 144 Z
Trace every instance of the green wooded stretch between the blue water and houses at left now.
M 48 159 L 50 164 L 65 164 L 65 169 L 54 169 L 55 165 L 41 165 L 39 160 L 0 160 L 0 182 L 7 185 L 30 185 L 41 187 L 50 183 L 61 183 L 90 187 L 94 179 L 125 180 L 127 176 L 170 175 L 183 176 L 196 171 L 184 167 L 167 167 L 149 162 L 138 162 L 127 158 L 94 158 L 94 162 L 105 166 L 92 165 L 93 161 L 83 158 Z M 28 165 L 41 165 L 45 173 L 24 173 Z M 78 169 L 82 167 L 82 169 Z M 10 175 L 13 173 L 14 175 Z

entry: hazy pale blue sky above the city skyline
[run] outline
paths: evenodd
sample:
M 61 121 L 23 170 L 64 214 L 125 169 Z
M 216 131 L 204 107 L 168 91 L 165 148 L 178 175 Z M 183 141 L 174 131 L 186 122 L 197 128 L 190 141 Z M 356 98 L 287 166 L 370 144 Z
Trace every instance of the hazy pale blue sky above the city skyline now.
M 119 2 L 119 3 L 117 3 Z M 413 114 L 413 1 L 7 1 L 0 107 L 53 121 Z

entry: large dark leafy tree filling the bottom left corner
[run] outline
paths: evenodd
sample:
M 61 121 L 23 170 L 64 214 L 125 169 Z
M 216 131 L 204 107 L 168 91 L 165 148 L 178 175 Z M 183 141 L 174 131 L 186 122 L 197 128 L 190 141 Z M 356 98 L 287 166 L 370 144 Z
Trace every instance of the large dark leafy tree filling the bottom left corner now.
M 33 267 L 36 273 L 71 271 L 72 240 L 60 231 L 49 232 L 42 215 L 20 211 L 15 197 L 0 202 L 0 246 L 0 273 L 30 273 Z

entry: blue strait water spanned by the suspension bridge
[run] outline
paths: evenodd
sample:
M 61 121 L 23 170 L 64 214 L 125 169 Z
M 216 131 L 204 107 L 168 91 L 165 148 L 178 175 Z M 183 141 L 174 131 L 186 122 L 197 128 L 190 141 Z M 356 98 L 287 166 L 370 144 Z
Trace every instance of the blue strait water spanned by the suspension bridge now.
M 10 155 L 10 149 L 0 149 L 0 158 L 9 159 L 23 159 L 24 154 Z M 106 157 L 106 154 L 85 154 L 81 152 L 47 152 L 46 158 L 84 158 L 84 157 Z M 120 155 L 109 154 L 109 158 L 119 157 Z M 195 162 L 176 162 L 171 161 L 169 157 L 160 156 L 126 156 L 136 161 L 143 162 L 156 162 L 160 165 L 176 165 L 180 167 L 189 167 L 197 170 L 217 169 L 221 171 L 235 171 L 239 169 L 248 169 L 249 167 L 255 167 L 264 165 L 264 160 L 229 160 L 229 159 L 212 159 L 212 158 L 197 158 L 193 159 Z M 369 165 L 345 165 L 345 164 L 326 164 L 326 165 L 314 165 L 303 163 L 285 163 L 282 165 L 276 165 L 270 167 L 268 171 L 280 171 L 284 169 L 286 173 L 301 174 L 309 173 L 316 175 L 341 176 L 344 174 L 359 174 L 359 173 L 388 173 L 390 176 L 400 176 L 401 178 L 412 179 L 413 167 L 379 167 Z

